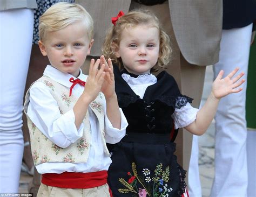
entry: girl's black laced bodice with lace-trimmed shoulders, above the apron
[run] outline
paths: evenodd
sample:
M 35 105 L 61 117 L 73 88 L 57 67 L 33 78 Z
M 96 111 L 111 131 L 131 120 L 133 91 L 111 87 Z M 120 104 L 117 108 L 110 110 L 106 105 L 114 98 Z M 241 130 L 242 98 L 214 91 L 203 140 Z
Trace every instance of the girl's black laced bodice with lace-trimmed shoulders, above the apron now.
M 147 87 L 141 99 L 121 74 L 118 67 L 114 66 L 118 104 L 129 123 L 126 132 L 170 133 L 174 109 L 191 103 L 192 98 L 181 95 L 174 78 L 163 71 L 157 76 L 157 83 Z

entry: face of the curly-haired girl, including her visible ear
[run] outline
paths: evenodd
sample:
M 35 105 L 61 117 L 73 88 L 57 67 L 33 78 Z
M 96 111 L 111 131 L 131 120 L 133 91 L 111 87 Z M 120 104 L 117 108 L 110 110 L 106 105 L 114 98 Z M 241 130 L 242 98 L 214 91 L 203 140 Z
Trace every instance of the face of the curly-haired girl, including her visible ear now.
M 137 75 L 150 73 L 159 57 L 159 30 L 146 25 L 124 29 L 114 52 L 128 72 Z

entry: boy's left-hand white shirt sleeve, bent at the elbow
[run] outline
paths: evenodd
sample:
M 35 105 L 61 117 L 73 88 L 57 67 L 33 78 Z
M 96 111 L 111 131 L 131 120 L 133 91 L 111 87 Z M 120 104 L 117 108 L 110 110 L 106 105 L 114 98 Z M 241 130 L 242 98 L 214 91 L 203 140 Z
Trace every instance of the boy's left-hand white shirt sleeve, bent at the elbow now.
M 77 130 L 75 114 L 69 110 L 60 114 L 58 104 L 44 83 L 36 82 L 30 88 L 27 114 L 37 128 L 53 143 L 68 147 L 83 135 L 83 123 Z

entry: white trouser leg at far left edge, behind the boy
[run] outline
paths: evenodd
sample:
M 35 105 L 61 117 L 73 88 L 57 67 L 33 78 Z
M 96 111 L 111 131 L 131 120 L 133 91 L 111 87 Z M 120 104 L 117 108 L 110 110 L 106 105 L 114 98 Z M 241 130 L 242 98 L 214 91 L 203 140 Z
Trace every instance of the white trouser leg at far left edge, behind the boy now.
M 23 156 L 22 104 L 33 10 L 0 11 L 0 193 L 17 193 Z

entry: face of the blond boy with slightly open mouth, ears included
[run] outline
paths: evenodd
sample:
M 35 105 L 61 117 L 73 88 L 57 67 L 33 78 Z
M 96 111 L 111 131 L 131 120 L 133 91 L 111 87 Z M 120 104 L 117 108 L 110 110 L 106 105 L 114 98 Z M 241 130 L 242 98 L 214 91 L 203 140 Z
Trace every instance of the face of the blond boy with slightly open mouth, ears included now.
M 76 22 L 58 31 L 46 33 L 44 41 L 38 45 L 44 56 L 48 56 L 51 65 L 63 73 L 75 77 L 90 54 L 93 39 L 89 40 L 83 22 Z

